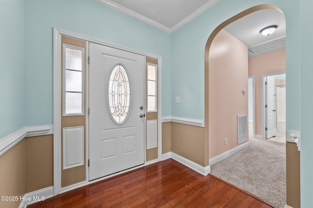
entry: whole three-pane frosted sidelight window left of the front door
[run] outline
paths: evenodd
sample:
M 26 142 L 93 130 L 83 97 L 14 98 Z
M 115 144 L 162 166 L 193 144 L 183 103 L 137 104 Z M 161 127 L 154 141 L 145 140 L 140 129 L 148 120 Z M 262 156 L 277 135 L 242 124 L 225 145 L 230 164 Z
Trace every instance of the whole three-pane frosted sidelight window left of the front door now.
M 84 114 L 84 49 L 63 44 L 63 115 Z

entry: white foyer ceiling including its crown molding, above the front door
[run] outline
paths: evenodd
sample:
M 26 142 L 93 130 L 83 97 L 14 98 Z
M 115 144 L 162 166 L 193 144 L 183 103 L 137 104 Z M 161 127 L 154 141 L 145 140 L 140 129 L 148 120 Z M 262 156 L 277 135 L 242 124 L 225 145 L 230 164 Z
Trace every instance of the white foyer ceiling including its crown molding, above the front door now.
M 94 0 L 172 33 L 220 0 Z

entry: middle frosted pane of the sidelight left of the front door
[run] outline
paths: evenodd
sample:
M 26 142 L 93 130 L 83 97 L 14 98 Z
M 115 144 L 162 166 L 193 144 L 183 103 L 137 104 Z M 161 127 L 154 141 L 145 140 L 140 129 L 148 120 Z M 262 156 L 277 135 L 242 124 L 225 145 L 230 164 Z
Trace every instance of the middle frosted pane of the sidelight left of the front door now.
M 66 91 L 82 92 L 82 72 L 66 70 Z

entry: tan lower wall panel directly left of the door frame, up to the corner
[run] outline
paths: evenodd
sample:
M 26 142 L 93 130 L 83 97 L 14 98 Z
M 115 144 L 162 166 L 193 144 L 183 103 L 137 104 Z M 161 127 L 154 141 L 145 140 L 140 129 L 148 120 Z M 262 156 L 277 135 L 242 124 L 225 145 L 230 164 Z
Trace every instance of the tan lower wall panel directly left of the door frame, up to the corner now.
M 24 140 L 26 193 L 53 186 L 53 135 Z

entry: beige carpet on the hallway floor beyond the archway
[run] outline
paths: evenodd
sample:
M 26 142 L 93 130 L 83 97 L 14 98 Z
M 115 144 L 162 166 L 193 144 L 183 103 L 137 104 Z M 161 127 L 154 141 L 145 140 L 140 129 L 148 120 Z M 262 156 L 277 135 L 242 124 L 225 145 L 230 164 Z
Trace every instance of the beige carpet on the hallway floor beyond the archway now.
M 249 138 L 246 149 L 211 166 L 211 174 L 266 202 L 286 205 L 286 144 Z

